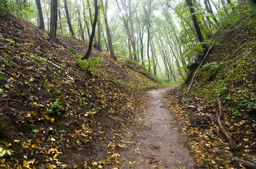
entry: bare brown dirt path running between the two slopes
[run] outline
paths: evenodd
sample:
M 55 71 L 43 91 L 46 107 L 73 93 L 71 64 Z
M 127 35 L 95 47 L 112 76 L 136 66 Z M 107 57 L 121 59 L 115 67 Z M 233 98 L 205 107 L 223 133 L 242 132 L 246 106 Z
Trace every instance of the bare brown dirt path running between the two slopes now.
M 167 89 L 148 92 L 148 108 L 143 112 L 140 135 L 134 147 L 123 150 L 125 169 L 192 169 L 194 162 L 185 148 L 182 135 L 172 112 L 165 107 L 162 93 Z M 131 139 L 133 138 L 131 137 Z M 121 159 L 120 159 L 121 160 Z

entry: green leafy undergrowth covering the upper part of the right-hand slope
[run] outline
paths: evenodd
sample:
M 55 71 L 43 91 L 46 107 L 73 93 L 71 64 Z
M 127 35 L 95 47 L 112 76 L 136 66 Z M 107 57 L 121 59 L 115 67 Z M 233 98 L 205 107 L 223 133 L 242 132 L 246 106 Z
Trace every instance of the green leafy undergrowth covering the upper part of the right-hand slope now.
M 230 116 L 248 117 L 256 111 L 256 20 L 249 2 L 239 2 L 232 22 L 224 22 L 215 49 L 198 71 L 192 93 L 217 104 L 216 95 L 228 105 Z

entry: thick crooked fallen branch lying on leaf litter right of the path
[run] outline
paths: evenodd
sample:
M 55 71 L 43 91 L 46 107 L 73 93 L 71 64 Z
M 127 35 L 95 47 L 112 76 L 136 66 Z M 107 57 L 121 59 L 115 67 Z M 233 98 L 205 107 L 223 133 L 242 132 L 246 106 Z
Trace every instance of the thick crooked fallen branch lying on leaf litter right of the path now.
M 237 146 L 236 146 L 235 141 L 233 140 L 233 138 L 229 134 L 229 132 L 227 132 L 227 130 L 224 128 L 224 126 L 221 123 L 221 119 L 223 117 L 223 110 L 222 110 L 222 106 L 221 106 L 221 98 L 219 96 L 217 96 L 217 100 L 218 100 L 218 108 L 219 108 L 219 114 L 218 114 L 218 117 L 217 117 L 218 126 L 221 129 L 221 132 L 227 138 L 228 146 L 229 146 L 230 150 L 232 152 L 234 152 L 234 151 L 237 150 Z

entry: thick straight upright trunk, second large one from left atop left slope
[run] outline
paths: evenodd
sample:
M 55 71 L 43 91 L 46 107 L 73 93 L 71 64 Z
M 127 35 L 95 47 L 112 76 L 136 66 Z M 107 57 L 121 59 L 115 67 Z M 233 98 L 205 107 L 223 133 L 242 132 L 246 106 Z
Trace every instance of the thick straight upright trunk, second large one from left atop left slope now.
M 50 38 L 56 42 L 58 20 L 58 0 L 51 0 Z

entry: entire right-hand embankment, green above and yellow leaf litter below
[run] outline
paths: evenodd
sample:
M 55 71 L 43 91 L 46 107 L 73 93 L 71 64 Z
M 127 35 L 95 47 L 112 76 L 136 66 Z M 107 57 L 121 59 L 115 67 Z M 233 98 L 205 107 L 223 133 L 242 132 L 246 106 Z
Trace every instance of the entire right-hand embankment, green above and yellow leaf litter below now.
M 256 162 L 256 17 L 248 3 L 241 2 L 227 18 L 232 23 L 216 35 L 214 49 L 189 95 L 188 86 L 166 92 L 167 104 L 181 120 L 194 158 L 202 167 L 242 166 L 227 157 L 231 153 L 227 139 L 210 118 L 217 119 L 216 95 L 224 108 L 222 123 L 238 146 L 233 155 Z M 212 128 L 211 119 L 215 122 Z

